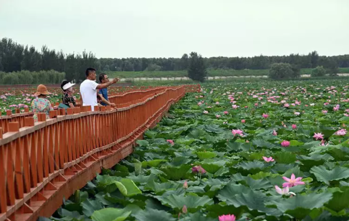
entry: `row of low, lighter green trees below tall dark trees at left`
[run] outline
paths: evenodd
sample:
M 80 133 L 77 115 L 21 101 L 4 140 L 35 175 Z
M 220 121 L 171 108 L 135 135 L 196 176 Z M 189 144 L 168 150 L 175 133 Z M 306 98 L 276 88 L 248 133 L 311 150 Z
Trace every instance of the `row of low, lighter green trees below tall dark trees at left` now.
M 0 71 L 2 85 L 60 84 L 66 74 L 54 70 L 49 71 Z

